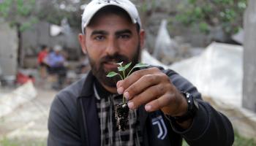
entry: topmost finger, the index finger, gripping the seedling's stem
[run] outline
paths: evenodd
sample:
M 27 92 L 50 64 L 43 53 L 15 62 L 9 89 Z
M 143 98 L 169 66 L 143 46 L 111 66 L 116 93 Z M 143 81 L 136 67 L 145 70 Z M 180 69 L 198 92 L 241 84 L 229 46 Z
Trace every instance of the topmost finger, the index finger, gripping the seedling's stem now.
M 160 72 L 159 69 L 156 67 L 148 68 L 148 69 L 141 69 L 136 72 L 133 72 L 129 77 L 124 80 L 120 80 L 116 83 L 118 93 L 123 93 L 130 85 L 143 77 L 146 74 L 154 74 L 155 72 Z

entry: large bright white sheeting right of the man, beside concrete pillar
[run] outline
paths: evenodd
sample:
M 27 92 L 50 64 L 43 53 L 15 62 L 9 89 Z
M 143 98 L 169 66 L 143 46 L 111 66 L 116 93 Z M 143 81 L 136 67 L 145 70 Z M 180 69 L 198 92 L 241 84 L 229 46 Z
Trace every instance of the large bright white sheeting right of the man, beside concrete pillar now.
M 170 68 L 186 77 L 203 95 L 241 107 L 242 55 L 239 45 L 214 42 L 201 55 Z

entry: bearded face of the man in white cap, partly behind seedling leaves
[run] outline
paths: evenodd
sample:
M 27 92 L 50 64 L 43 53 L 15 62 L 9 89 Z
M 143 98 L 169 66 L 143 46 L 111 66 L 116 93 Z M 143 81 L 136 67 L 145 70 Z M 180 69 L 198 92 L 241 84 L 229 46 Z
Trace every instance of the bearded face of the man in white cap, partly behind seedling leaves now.
M 117 72 L 118 62 L 132 65 L 138 63 L 144 32 L 138 33 L 136 25 L 119 15 L 103 15 L 95 18 L 80 35 L 83 52 L 89 56 L 91 71 L 99 82 L 116 87 L 120 77 L 106 77 L 108 72 Z

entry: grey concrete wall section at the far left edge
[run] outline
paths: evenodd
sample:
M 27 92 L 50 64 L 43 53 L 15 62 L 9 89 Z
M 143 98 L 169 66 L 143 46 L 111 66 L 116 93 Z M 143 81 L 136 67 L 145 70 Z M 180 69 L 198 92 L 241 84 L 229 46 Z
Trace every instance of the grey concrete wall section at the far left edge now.
M 18 36 L 15 28 L 0 20 L 0 66 L 3 77 L 17 72 Z

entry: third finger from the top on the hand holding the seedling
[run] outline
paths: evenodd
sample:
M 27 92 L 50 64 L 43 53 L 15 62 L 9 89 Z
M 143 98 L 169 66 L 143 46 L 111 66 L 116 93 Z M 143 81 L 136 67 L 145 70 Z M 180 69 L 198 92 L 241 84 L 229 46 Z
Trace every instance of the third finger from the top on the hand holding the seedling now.
M 164 94 L 162 88 L 162 85 L 154 85 L 147 88 L 146 91 L 143 91 L 129 100 L 128 107 L 134 110 L 140 107 L 140 105 L 147 104 L 148 102 L 157 99 Z

